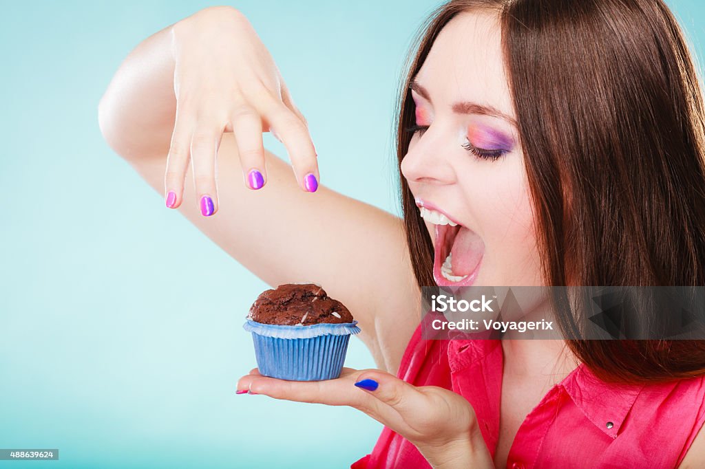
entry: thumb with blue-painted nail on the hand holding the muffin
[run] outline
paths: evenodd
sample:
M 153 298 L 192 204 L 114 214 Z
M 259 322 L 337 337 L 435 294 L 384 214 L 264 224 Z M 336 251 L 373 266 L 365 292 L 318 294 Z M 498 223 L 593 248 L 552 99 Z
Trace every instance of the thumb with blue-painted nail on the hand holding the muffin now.
M 381 371 L 360 373 L 355 386 L 399 412 L 418 409 L 424 394 L 411 384 Z

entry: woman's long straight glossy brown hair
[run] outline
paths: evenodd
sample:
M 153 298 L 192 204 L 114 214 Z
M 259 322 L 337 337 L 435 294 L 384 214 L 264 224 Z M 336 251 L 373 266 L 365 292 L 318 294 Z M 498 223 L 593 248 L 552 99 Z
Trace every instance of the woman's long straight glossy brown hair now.
M 455 15 L 497 13 L 547 285 L 705 284 L 705 108 L 682 32 L 661 0 L 453 0 L 407 62 L 397 154 L 414 125 L 409 86 Z M 400 191 L 415 275 L 433 244 Z M 559 327 L 570 318 L 556 311 Z M 565 313 L 564 313 L 565 314 Z M 601 379 L 705 374 L 705 341 L 566 340 Z

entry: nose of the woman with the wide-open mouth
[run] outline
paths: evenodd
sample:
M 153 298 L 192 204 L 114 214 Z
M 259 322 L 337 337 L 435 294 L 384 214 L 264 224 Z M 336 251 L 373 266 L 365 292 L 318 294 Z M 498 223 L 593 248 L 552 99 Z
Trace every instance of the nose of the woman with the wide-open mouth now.
M 401 173 L 408 182 L 446 185 L 455 182 L 455 170 L 450 161 L 452 137 L 434 132 L 433 126 L 409 144 L 401 161 Z

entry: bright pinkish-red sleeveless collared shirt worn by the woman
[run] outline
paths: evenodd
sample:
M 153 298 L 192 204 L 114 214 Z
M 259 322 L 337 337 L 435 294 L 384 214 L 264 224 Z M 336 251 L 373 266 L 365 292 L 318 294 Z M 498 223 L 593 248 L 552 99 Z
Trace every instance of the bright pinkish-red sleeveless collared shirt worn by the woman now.
M 422 340 L 419 326 L 398 377 L 451 389 L 470 401 L 494 458 L 503 349 L 498 339 Z M 705 420 L 705 377 L 608 384 L 581 363 L 529 412 L 507 467 L 675 468 Z M 429 468 L 416 446 L 384 427 L 353 469 Z

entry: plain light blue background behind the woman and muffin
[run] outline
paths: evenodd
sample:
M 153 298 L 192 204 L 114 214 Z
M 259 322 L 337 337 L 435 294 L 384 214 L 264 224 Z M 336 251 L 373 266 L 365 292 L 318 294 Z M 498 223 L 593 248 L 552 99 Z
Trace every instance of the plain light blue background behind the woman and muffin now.
M 705 8 L 670 4 L 699 51 Z M 379 435 L 353 409 L 235 395 L 255 365 L 244 316 L 266 285 L 100 135 L 97 104 L 122 59 L 207 5 L 0 3 L 0 448 L 61 451 L 0 466 L 336 468 Z M 236 4 L 309 121 L 322 182 L 394 213 L 393 99 L 435 5 Z M 347 365 L 374 365 L 355 339 Z

